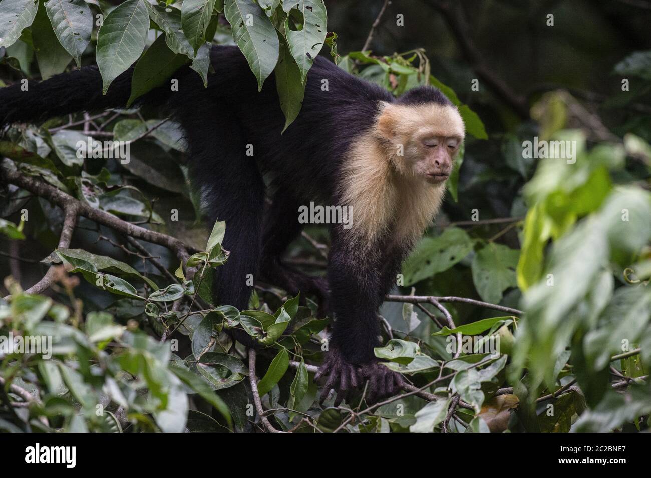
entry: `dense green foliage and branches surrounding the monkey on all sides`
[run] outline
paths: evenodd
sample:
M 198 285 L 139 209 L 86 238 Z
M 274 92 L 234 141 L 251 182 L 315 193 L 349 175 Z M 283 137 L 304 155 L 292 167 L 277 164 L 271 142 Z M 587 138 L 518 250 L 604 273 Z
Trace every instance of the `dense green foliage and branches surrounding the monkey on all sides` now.
M 120 109 L 14 125 L 0 140 L 9 183 L 0 337 L 52 341 L 51 357 L 0 348 L 1 430 L 648 430 L 651 109 L 628 109 L 648 98 L 651 51 L 612 66 L 635 83 L 611 100 L 628 111 L 624 126 L 604 126 L 566 90 L 551 90 L 532 99 L 531 118 L 513 119 L 511 105 L 511 126 L 493 135 L 430 71 L 422 48 L 344 55 L 326 25 L 322 0 L 1 0 L 0 77 L 97 64 L 106 90 L 135 62 L 131 107 L 184 64 L 205 83 L 210 44 L 235 43 L 259 86 L 275 72 L 287 125 L 319 52 L 396 95 L 441 88 L 464 118 L 465 150 L 492 150 L 501 163 L 462 152 L 451 206 L 380 310 L 376 356 L 411 387 L 379 404 L 361 391 L 320 405 L 312 379 L 329 319 L 311 297 L 299 305 L 256 283 L 250 310 L 214 304 L 229 225 L 201 223 L 179 127 L 156 109 Z M 77 142 L 89 137 L 129 141 L 129 161 L 79 157 Z M 538 157 L 527 145 L 534 137 L 572 153 Z M 473 193 L 501 196 L 495 183 L 513 193 L 506 217 Z M 461 218 L 450 221 L 450 211 Z M 327 241 L 309 227 L 288 261 L 323 274 Z M 247 356 L 229 328 L 264 349 Z M 451 349 L 453 338 L 464 348 Z

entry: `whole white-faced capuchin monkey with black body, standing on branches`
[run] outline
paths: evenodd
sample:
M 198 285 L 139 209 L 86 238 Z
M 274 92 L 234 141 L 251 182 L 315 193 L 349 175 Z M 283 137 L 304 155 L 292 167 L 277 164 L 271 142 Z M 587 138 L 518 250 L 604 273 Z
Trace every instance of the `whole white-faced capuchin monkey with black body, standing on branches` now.
M 180 122 L 206 219 L 226 221 L 223 246 L 230 259 L 217 269 L 215 304 L 247 308 L 248 274 L 291 294 L 317 295 L 334 319 L 316 377 L 327 377 L 323 397 L 335 390 L 340 402 L 367 380 L 370 401 L 395 395 L 402 378 L 373 352 L 380 345 L 378 308 L 441 205 L 464 140 L 460 114 L 436 88 L 394 98 L 317 57 L 301 112 L 281 134 L 285 120 L 273 75 L 258 92 L 237 47 L 214 46 L 211 59 L 208 88 L 184 67 L 174 74 L 178 91 L 158 88 L 140 103 L 167 105 Z M 105 95 L 94 67 L 30 84 L 27 91 L 0 88 L 0 123 L 124 107 L 131 77 L 132 70 L 120 75 Z M 273 187 L 265 186 L 266 172 L 275 178 Z M 275 191 L 270 201 L 266 191 Z M 310 202 L 350 211 L 350 224 L 330 226 L 327 281 L 282 261 L 303 226 L 299 207 Z

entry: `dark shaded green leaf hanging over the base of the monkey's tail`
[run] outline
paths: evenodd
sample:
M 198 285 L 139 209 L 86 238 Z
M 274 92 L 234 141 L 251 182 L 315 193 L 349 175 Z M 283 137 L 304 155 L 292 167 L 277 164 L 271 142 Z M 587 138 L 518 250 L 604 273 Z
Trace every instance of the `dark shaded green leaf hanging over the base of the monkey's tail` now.
M 162 86 L 186 62 L 186 55 L 174 53 L 165 43 L 165 36 L 160 35 L 135 64 L 131 96 L 126 105 L 130 106 L 136 98 Z

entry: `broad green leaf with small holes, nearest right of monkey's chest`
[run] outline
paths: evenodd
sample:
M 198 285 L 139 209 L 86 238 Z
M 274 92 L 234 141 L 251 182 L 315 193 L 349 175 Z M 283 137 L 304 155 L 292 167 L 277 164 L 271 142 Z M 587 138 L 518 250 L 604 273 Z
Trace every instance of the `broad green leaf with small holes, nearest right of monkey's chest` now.
M 402 267 L 404 285 L 447 271 L 473 250 L 473 241 L 460 228 L 446 228 L 438 237 L 424 237 Z

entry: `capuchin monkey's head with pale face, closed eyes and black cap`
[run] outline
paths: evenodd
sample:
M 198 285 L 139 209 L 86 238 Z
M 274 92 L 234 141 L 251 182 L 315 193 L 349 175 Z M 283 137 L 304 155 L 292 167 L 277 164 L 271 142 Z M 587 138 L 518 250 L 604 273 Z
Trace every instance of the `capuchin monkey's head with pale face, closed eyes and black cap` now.
M 456 107 L 431 86 L 383 103 L 378 131 L 399 174 L 432 184 L 449 178 L 465 136 Z

